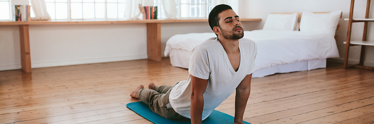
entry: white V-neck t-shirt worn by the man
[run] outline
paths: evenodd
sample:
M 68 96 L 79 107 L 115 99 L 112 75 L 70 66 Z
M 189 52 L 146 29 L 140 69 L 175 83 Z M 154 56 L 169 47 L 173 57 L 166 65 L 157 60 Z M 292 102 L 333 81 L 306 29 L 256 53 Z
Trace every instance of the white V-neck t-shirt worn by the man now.
M 191 53 L 188 72 L 201 79 L 208 79 L 203 94 L 202 120 L 226 100 L 247 74 L 255 71 L 257 45 L 250 39 L 239 39 L 240 64 L 235 71 L 218 38 L 209 38 L 197 45 Z M 170 91 L 169 101 L 178 114 L 191 118 L 191 77 L 179 82 Z

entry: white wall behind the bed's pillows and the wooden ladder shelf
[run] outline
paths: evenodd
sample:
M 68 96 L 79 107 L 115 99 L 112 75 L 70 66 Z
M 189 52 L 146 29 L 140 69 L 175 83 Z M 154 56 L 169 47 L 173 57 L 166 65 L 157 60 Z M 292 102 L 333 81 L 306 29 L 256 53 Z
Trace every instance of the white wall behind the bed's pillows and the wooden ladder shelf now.
M 356 0 L 353 18 L 365 18 L 367 0 Z M 374 2 L 371 2 L 370 17 L 374 18 Z M 342 10 L 343 17 L 340 19 L 340 30 L 336 32 L 338 35 L 337 46 L 340 58 L 328 59 L 328 61 L 336 61 L 343 63 L 345 55 L 344 41 L 347 39 L 348 21 L 344 18 L 349 17 L 350 0 L 240 0 L 239 15 L 244 18 L 261 18 L 261 22 L 256 23 L 253 29 L 262 29 L 267 15 L 270 12 L 331 12 Z M 254 23 L 252 23 L 254 24 Z M 351 40 L 362 40 L 362 32 L 364 23 L 353 23 Z M 369 23 L 367 40 L 374 40 L 374 25 Z M 350 47 L 349 60 L 355 64 L 359 61 L 361 47 Z M 364 64 L 374 66 L 374 47 L 366 47 L 366 55 Z

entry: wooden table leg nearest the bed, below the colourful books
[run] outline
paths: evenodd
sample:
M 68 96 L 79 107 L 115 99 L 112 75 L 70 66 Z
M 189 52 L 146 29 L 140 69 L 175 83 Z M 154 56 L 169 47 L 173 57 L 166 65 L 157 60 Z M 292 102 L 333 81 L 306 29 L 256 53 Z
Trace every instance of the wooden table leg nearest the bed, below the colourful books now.
M 161 23 L 147 23 L 147 54 L 149 60 L 161 61 Z

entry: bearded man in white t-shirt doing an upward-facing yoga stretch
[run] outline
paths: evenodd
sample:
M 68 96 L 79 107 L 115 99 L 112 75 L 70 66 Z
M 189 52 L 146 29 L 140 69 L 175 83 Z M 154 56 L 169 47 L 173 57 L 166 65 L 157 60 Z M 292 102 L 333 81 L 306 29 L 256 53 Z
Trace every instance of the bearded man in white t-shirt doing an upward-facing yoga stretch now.
M 130 96 L 162 117 L 190 118 L 192 124 L 201 124 L 236 89 L 234 124 L 243 124 L 257 45 L 243 38 L 242 23 L 230 6 L 214 7 L 208 20 L 218 38 L 192 50 L 187 80 L 174 86 L 150 83 L 148 89 L 139 85 Z

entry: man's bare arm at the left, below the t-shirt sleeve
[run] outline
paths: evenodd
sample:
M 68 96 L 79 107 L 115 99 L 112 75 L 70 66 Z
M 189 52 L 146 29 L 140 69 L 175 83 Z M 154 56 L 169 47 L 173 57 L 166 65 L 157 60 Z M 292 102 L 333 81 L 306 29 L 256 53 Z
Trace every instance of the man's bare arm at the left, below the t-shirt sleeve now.
M 192 124 L 202 124 L 202 113 L 204 108 L 204 97 L 206 85 L 208 84 L 207 79 L 200 79 L 191 76 L 191 123 Z

